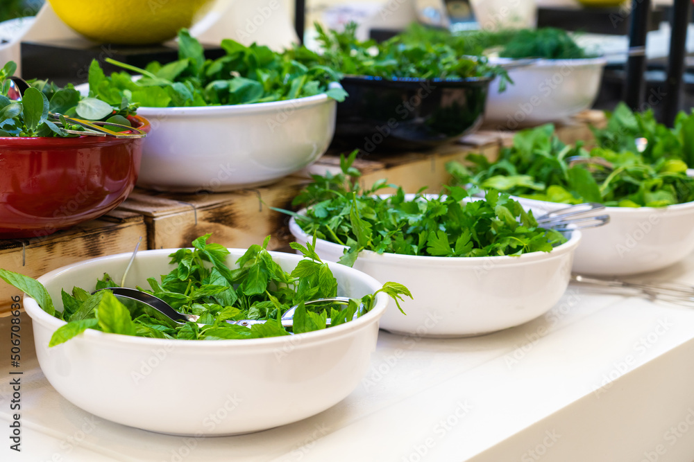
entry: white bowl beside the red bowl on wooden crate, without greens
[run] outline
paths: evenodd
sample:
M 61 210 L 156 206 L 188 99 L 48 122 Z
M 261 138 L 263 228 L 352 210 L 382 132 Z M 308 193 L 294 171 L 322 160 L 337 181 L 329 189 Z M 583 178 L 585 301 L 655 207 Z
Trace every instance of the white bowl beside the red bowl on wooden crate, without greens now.
M 337 103 L 325 94 L 210 107 L 140 107 L 144 140 L 138 186 L 222 192 L 271 184 L 310 166 L 335 133 Z

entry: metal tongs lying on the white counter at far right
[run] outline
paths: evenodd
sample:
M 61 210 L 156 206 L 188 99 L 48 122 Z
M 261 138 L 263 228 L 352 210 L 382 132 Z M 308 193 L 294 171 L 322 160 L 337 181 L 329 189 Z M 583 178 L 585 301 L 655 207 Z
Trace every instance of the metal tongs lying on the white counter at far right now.
M 600 278 L 572 274 L 571 281 L 598 287 L 625 289 L 645 296 L 649 300 L 662 300 L 675 305 L 694 305 L 694 285 L 684 283 L 632 283 L 618 278 Z

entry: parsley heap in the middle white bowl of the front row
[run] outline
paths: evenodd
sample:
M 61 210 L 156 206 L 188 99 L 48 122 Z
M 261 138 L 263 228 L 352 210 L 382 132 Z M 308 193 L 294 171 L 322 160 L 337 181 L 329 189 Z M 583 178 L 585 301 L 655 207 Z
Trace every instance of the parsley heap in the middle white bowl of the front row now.
M 468 193 L 459 186 L 448 188 L 446 195 L 410 199 L 398 188 L 394 195 L 379 197 L 378 190 L 396 186 L 382 180 L 362 189 L 359 170 L 352 167 L 356 155 L 341 157 L 339 175 L 314 175 L 294 199 L 294 205 L 307 207 L 305 215 L 285 211 L 305 233 L 349 247 L 340 263 L 353 265 L 363 249 L 415 256 L 518 256 L 566 242 L 561 233 L 540 228 L 532 212 L 509 195 L 493 190 L 484 200 L 470 202 L 463 202 Z

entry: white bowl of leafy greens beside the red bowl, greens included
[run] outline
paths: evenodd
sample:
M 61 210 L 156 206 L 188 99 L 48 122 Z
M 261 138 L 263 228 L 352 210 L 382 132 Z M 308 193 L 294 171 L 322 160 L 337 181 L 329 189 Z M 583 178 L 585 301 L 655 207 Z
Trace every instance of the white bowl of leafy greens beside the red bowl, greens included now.
M 91 96 L 127 100 L 152 123 L 138 186 L 213 192 L 271 184 L 314 163 L 335 131 L 336 100 L 346 94 L 325 66 L 301 63 L 301 48 L 276 53 L 225 39 L 226 55 L 205 60 L 187 30 L 180 59 L 144 69 L 107 60 L 141 75 L 89 72 Z M 333 84 L 333 85 L 331 85 Z

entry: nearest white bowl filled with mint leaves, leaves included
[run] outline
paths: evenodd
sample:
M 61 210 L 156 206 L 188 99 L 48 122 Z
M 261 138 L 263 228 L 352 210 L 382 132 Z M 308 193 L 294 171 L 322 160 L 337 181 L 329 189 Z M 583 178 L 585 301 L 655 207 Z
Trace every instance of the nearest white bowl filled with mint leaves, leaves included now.
M 322 263 L 310 245 L 295 245 L 304 257 L 267 251 L 269 237 L 249 249 L 226 249 L 208 237 L 191 249 L 140 251 L 124 281 L 198 314 L 199 324 L 173 325 L 108 290 L 91 294 L 120 285 L 130 254 L 85 260 L 37 281 L 0 269 L 1 278 L 33 297 L 24 297 L 24 308 L 37 359 L 56 391 L 116 423 L 198 437 L 292 423 L 357 387 L 387 294 L 406 290 Z M 302 303 L 335 295 L 352 300 Z M 295 304 L 293 326 L 282 327 L 279 317 Z M 239 319 L 265 322 L 226 322 Z

